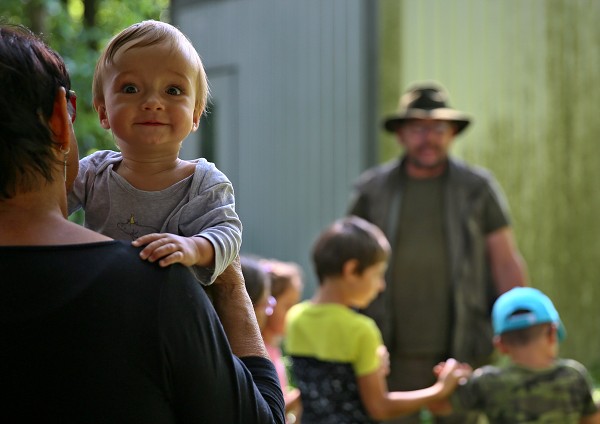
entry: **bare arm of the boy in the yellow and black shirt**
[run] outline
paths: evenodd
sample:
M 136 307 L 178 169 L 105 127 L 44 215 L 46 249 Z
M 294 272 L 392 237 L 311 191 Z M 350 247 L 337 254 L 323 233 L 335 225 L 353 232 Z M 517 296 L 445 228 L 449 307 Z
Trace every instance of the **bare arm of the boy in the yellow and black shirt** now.
M 416 412 L 427 403 L 450 395 L 458 380 L 462 378 L 462 374 L 458 372 L 459 367 L 459 363 L 454 359 L 448 359 L 434 385 L 406 392 L 388 392 L 385 376 L 378 369 L 358 378 L 361 400 L 369 415 L 376 420 L 387 420 Z

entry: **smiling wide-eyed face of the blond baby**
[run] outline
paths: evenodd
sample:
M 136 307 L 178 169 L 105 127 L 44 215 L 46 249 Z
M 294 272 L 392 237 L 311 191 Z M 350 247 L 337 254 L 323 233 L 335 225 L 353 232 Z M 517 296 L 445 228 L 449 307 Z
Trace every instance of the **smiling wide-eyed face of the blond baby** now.
M 179 146 L 197 128 L 197 71 L 185 53 L 169 44 L 128 48 L 115 55 L 96 104 L 102 126 L 121 149 Z

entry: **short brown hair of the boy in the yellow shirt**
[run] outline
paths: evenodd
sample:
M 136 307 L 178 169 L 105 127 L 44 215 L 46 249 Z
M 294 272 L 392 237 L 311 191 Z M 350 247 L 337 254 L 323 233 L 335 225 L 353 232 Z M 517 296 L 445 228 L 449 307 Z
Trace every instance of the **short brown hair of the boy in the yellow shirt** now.
M 383 232 L 357 216 L 335 221 L 321 233 L 312 250 L 312 260 L 319 284 L 326 277 L 342 273 L 349 260 L 358 261 L 357 272 L 386 261 L 390 245 Z

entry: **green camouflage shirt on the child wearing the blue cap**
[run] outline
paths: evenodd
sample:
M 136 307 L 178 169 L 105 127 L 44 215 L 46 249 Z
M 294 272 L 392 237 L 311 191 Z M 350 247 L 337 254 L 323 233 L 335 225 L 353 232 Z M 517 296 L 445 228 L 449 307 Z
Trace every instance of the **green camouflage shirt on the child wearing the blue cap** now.
M 591 378 L 570 359 L 543 370 L 515 364 L 475 370 L 451 401 L 456 411 L 483 412 L 491 424 L 569 424 L 596 412 Z

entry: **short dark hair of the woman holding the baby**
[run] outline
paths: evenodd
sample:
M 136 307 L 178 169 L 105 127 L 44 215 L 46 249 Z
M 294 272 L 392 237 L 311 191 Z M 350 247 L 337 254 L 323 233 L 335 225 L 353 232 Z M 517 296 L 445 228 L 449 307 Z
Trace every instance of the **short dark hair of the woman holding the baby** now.
M 52 181 L 52 116 L 71 81 L 62 58 L 30 30 L 0 24 L 0 201 Z

